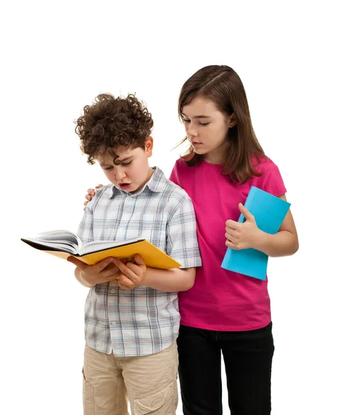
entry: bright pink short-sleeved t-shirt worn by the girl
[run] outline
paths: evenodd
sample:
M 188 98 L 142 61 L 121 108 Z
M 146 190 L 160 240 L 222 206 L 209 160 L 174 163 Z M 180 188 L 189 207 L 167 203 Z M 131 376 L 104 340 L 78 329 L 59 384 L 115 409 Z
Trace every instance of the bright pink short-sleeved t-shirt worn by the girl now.
M 280 196 L 286 193 L 278 167 L 266 158 L 255 167 L 262 176 L 240 185 L 221 174 L 219 165 L 203 161 L 187 167 L 178 159 L 170 180 L 192 199 L 196 213 L 203 266 L 189 291 L 178 293 L 181 324 L 216 331 L 261 329 L 270 323 L 268 280 L 261 281 L 221 268 L 226 252 L 225 221 L 238 221 L 238 203 L 245 203 L 250 187 Z

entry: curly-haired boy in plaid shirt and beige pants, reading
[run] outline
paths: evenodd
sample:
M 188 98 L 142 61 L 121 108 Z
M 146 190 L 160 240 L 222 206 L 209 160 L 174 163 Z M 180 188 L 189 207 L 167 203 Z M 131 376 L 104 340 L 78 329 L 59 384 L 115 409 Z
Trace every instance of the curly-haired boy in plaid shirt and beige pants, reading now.
M 201 266 L 190 197 L 149 167 L 153 120 L 133 95 L 98 95 L 77 120 L 88 163 L 100 163 L 111 185 L 86 206 L 82 241 L 142 237 L 182 264 L 147 268 L 106 258 L 93 266 L 69 257 L 91 288 L 85 306 L 84 414 L 176 413 L 180 316 L 178 291 L 192 288 Z M 119 279 L 118 279 L 119 278 Z

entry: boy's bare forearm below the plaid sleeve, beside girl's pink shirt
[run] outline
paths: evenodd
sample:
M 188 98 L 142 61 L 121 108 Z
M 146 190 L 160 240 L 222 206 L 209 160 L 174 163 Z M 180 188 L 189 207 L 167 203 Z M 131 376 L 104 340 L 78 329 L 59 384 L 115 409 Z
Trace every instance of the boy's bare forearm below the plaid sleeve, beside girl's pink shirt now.
M 192 288 L 195 279 L 195 268 L 173 268 L 159 270 L 147 268 L 142 284 L 159 291 L 177 293 Z

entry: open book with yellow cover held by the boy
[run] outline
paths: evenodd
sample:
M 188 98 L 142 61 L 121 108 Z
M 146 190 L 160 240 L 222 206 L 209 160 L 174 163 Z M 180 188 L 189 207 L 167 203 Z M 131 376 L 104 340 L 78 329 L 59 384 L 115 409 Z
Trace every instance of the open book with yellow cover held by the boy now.
M 51 230 L 39 233 L 32 238 L 21 238 L 21 241 L 62 259 L 67 259 L 72 255 L 88 265 L 97 264 L 107 257 L 133 259 L 133 255 L 139 254 L 146 266 L 151 268 L 167 270 L 181 266 L 178 261 L 169 257 L 152 243 L 140 238 L 120 241 L 91 241 L 83 244 L 73 232 Z

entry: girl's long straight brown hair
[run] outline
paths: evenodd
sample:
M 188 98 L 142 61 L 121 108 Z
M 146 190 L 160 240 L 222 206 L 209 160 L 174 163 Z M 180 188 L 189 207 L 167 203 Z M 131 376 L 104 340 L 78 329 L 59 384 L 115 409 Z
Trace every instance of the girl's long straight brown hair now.
M 178 99 L 178 116 L 183 121 L 183 107 L 195 98 L 207 98 L 226 116 L 234 114 L 237 124 L 230 127 L 226 137 L 227 147 L 223 154 L 222 174 L 230 174 L 232 180 L 245 183 L 252 176 L 261 176 L 255 171 L 254 160 L 266 157 L 252 128 L 248 100 L 240 77 L 229 66 L 210 65 L 199 69 L 183 84 Z M 180 144 L 187 140 L 187 136 Z M 179 144 L 179 145 L 180 145 Z M 192 167 L 203 160 L 190 145 L 181 156 Z

